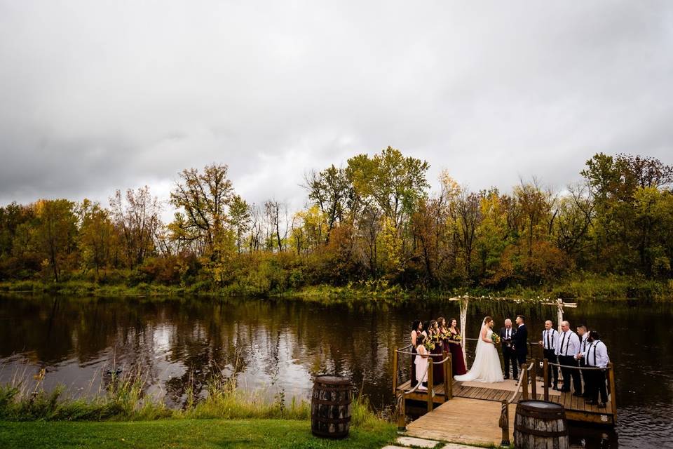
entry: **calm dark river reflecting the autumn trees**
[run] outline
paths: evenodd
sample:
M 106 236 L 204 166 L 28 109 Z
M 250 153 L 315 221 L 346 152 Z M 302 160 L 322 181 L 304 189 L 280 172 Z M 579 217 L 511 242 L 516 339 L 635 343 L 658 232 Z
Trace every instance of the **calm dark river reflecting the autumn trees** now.
M 555 307 L 472 304 L 466 334 L 485 314 L 501 326 L 524 313 L 538 335 Z M 190 377 L 205 391 L 212 373 L 238 376 L 240 387 L 269 397 L 308 398 L 312 376 L 351 377 L 377 408 L 393 403 L 393 347 L 407 344 L 413 319 L 458 318 L 456 302 L 321 305 L 286 300 L 141 300 L 128 298 L 0 297 L 0 382 L 46 368 L 46 388 L 93 394 L 111 368 L 142 361 L 149 391 L 180 406 Z M 616 435 L 573 429 L 587 447 L 673 447 L 673 304 L 580 302 L 567 309 L 576 326 L 603 335 L 617 373 Z M 468 354 L 470 347 L 468 346 Z M 602 437 L 605 441 L 601 443 Z

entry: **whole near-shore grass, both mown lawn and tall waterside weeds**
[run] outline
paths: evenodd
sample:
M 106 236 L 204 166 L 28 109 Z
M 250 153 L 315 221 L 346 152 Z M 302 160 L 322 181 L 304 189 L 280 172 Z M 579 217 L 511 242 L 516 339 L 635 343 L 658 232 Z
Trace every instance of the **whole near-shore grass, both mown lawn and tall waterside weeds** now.
M 0 387 L 0 448 L 381 448 L 395 426 L 354 398 L 351 435 L 330 441 L 311 435 L 306 401 L 269 401 L 241 391 L 236 377 L 213 377 L 208 395 L 187 395 L 184 408 L 144 396 L 142 364 L 112 377 L 91 398 L 45 391 L 45 372 L 15 376 Z

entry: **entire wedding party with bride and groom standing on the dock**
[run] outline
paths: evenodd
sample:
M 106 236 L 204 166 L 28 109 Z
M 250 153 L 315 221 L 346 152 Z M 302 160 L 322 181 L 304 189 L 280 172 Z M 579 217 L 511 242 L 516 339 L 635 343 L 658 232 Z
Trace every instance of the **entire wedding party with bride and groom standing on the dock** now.
M 420 382 L 418 389 L 426 391 L 430 369 L 433 370 L 433 384 L 444 382 L 442 365 L 436 362 L 445 354 L 451 354 L 451 375 L 459 382 L 504 382 L 510 378 L 510 371 L 513 379 L 518 380 L 519 366 L 526 363 L 529 356 L 529 337 L 525 316 L 517 315 L 514 324 L 511 319 L 505 319 L 505 326 L 499 333 L 494 333 L 494 319 L 491 316 L 484 318 L 474 361 L 468 371 L 463 356 L 463 337 L 456 319 L 414 321 L 411 333 L 412 387 Z M 560 328 L 559 332 L 551 320 L 545 321 L 541 340 L 535 342 L 548 360 L 548 387 L 573 391 L 575 396 L 583 396 L 585 403 L 604 408 L 608 401 L 605 369 L 610 362 L 606 344 L 597 330 L 588 330 L 585 325 L 577 326 L 573 331 L 568 321 L 562 321 Z M 498 346 L 502 348 L 504 371 Z M 435 364 L 430 366 L 430 361 Z

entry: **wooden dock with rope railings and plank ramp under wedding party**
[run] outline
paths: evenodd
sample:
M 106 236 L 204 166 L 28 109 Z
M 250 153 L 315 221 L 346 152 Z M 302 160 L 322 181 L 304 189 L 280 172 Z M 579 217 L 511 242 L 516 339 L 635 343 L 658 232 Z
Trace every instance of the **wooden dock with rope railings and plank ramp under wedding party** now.
M 514 422 L 517 403 L 527 399 L 561 404 L 566 419 L 571 422 L 601 427 L 614 427 L 616 423 L 614 370 L 611 365 L 607 369 L 610 401 L 606 403 L 605 408 L 598 408 L 585 403 L 583 397 L 545 388 L 547 370 L 544 368 L 547 362 L 544 361 L 543 367 L 540 367 L 540 362 L 534 359 L 527 363 L 527 368 L 522 371 L 519 378 L 521 387 L 515 380 L 480 384 L 458 382 L 446 375 L 441 383 L 435 384 L 430 393 L 412 388 L 409 381 L 397 385 L 397 352 L 403 352 L 404 349 L 396 351 L 393 361 L 395 366 L 393 390 L 397 397 L 398 427 L 405 427 L 407 410 L 425 412 L 406 426 L 407 434 L 410 436 L 483 445 L 499 445 L 501 442 L 513 441 L 513 425 L 509 423 Z M 434 363 L 443 364 L 443 372 L 451 373 L 451 358 L 448 354 L 444 354 L 442 361 L 437 359 Z M 428 370 L 429 384 L 433 382 L 431 371 Z M 538 373 L 542 376 L 538 377 L 536 375 Z M 501 427 L 503 421 L 507 424 Z

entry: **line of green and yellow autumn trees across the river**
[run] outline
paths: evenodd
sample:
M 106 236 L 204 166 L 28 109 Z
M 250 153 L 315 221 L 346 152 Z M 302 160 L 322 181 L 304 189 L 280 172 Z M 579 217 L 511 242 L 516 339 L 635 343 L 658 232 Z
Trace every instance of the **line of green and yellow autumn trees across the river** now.
M 0 208 L 0 280 L 160 283 L 241 293 L 385 281 L 405 288 L 540 285 L 576 272 L 671 279 L 673 167 L 595 154 L 561 192 L 521 181 L 472 191 L 388 147 L 308 173 L 306 206 L 236 193 L 228 167 L 179 173 L 161 220 L 148 187 L 109 204 Z

